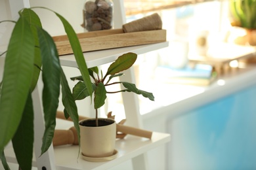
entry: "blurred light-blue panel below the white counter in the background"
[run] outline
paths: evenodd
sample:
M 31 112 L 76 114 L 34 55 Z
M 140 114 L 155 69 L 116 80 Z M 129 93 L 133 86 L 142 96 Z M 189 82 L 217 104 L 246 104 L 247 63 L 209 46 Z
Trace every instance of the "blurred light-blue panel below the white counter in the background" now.
M 256 87 L 174 118 L 168 129 L 169 169 L 256 169 Z

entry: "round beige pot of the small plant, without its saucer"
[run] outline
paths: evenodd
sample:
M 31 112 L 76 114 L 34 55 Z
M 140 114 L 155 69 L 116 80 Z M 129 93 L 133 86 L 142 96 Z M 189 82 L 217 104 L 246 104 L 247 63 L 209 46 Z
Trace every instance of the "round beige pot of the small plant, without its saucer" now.
M 106 120 L 107 126 L 102 126 L 101 122 Z M 109 118 L 98 118 L 98 127 L 90 127 L 89 122 L 95 123 L 95 118 L 81 120 L 81 152 L 83 156 L 89 158 L 104 158 L 114 154 L 116 144 L 116 122 Z

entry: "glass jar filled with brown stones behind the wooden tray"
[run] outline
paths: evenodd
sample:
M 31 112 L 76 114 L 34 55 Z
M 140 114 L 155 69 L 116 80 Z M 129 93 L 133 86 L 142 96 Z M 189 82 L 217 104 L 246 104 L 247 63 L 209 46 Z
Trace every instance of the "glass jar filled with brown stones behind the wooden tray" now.
M 113 27 L 112 0 L 86 0 L 83 7 L 83 24 L 87 31 L 112 29 Z

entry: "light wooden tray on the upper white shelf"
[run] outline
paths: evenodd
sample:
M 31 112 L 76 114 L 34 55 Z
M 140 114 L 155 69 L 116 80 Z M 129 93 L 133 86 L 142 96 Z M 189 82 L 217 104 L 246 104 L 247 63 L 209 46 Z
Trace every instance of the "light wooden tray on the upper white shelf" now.
M 104 31 L 92 31 L 78 33 L 77 37 L 81 43 L 83 52 L 106 50 L 125 46 L 136 46 L 142 44 L 153 44 L 166 41 L 166 30 L 140 31 L 123 33 L 122 29 L 110 29 Z M 66 35 L 53 37 L 58 54 L 73 54 L 70 42 Z

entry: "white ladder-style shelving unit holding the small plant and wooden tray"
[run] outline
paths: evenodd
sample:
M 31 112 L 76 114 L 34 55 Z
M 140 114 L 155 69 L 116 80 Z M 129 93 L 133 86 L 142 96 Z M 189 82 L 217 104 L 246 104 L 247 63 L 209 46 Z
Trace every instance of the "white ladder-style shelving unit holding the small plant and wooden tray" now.
M 21 1 L 21 0 L 20 0 Z M 19 3 L 20 3 L 19 1 Z M 8 2 L 8 0 L 6 0 Z M 10 10 L 13 13 L 12 9 L 17 9 L 15 6 L 14 0 L 9 0 L 11 6 Z M 119 5 L 119 12 L 121 12 L 122 1 L 114 1 L 115 5 Z M 28 7 L 29 1 L 23 1 L 23 7 Z M 15 7 L 15 8 L 14 8 Z M 12 16 L 13 18 L 13 16 Z M 119 18 L 119 21 L 122 20 L 122 17 Z M 161 42 L 157 44 L 141 45 L 141 46 L 131 46 L 125 48 L 116 48 L 110 50 L 101 50 L 97 52 L 86 52 L 84 53 L 85 60 L 87 61 L 88 67 L 94 67 L 97 65 L 102 65 L 104 63 L 109 63 L 114 61 L 121 54 L 127 52 L 135 52 L 136 54 L 143 54 L 145 52 L 150 52 L 152 50 L 158 50 L 159 48 L 164 48 L 168 46 L 168 42 Z M 77 67 L 75 58 L 73 55 L 60 56 L 60 63 L 63 66 L 67 67 Z M 133 69 L 127 72 L 127 78 L 129 80 L 134 80 L 133 78 Z M 40 80 L 41 78 L 39 78 Z M 33 166 L 38 169 L 108 169 L 122 163 L 126 160 L 133 161 L 134 169 L 147 169 L 146 157 L 144 153 L 152 148 L 156 148 L 161 144 L 167 143 L 170 141 L 170 135 L 167 133 L 158 133 L 153 132 L 152 139 L 144 139 L 141 137 L 135 137 L 128 135 L 125 139 L 119 139 L 116 143 L 116 150 L 118 151 L 117 158 L 112 161 L 93 163 L 89 161 L 82 160 L 78 157 L 78 146 L 58 146 L 53 148 L 51 146 L 45 154 L 41 155 L 41 139 L 43 137 L 44 131 L 44 122 L 43 122 L 43 107 L 41 103 L 41 90 L 43 85 L 41 82 L 37 84 L 37 88 L 33 92 L 33 105 L 35 112 L 34 120 L 34 157 L 33 157 Z M 127 122 L 130 122 L 129 126 L 142 127 L 142 120 L 139 113 L 139 103 L 134 95 L 125 96 L 127 99 L 124 99 L 124 105 L 126 110 Z M 127 109 L 131 108 L 133 109 Z M 129 121 L 130 120 L 130 121 Z M 131 123 L 133 122 L 133 123 Z M 65 125 L 64 125 L 65 126 Z M 5 156 L 7 161 L 16 163 L 16 158 L 14 157 L 13 149 L 5 149 Z M 138 163 L 139 162 L 139 163 Z

